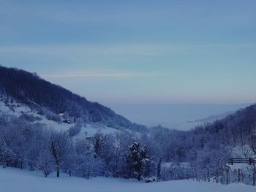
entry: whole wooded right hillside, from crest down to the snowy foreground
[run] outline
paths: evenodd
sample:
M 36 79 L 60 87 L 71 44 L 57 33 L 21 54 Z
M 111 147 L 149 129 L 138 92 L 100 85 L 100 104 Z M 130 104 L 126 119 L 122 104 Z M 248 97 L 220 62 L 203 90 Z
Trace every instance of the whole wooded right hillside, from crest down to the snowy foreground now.
M 253 166 L 230 168 L 228 158 L 255 157 L 256 105 L 238 110 L 222 120 L 197 126 L 190 131 L 151 128 L 151 142 L 157 143 L 157 153 L 163 155 L 165 180 L 196 177 L 217 182 L 238 182 L 238 169 L 243 183 L 252 185 Z M 184 163 L 183 163 L 184 162 Z M 241 173 L 242 172 L 242 173 Z

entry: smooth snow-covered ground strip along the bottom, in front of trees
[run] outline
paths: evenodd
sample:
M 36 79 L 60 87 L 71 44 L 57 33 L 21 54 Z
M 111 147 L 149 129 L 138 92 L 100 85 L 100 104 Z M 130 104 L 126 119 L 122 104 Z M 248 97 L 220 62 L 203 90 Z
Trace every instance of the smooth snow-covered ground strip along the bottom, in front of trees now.
M 220 185 L 196 181 L 169 181 L 158 183 L 143 183 L 136 180 L 123 180 L 105 177 L 85 180 L 79 177 L 67 177 L 64 174 L 60 178 L 42 177 L 41 172 L 29 172 L 20 169 L 0 168 L 1 192 L 130 192 L 130 191 L 175 191 L 175 192 L 241 192 L 255 191 L 256 188 L 244 184 Z

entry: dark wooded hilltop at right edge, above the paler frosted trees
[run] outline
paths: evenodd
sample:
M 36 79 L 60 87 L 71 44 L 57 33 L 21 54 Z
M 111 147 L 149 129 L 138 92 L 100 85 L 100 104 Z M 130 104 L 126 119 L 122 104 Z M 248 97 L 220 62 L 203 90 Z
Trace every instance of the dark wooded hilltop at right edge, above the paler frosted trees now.
M 256 134 L 256 104 L 238 110 L 227 118 L 194 128 L 194 134 L 214 137 L 223 145 L 250 145 Z

